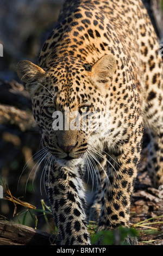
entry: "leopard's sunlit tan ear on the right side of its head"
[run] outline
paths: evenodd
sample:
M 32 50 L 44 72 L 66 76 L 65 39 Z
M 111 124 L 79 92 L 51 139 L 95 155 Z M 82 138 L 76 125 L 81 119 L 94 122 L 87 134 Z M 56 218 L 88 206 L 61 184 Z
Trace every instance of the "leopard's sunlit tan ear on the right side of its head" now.
M 96 83 L 107 85 L 116 69 L 116 59 L 113 55 L 104 55 L 91 67 L 91 77 Z

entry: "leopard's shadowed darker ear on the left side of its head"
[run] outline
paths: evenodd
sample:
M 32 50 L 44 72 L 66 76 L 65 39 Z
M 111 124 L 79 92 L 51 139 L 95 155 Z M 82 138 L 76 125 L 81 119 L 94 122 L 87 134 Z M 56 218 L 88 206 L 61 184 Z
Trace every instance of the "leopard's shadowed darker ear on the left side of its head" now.
M 37 83 L 43 81 L 46 76 L 45 70 L 29 62 L 29 60 L 21 60 L 18 62 L 16 71 L 18 77 L 26 84 L 26 89 L 30 93 L 33 93 L 37 89 Z

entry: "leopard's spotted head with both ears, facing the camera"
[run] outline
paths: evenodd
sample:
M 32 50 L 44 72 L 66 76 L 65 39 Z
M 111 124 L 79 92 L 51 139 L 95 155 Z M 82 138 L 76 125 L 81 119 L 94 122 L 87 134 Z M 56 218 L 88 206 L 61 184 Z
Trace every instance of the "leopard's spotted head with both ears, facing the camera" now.
M 43 69 L 28 60 L 17 64 L 17 74 L 32 97 L 42 145 L 59 163 L 77 163 L 92 146 L 90 137 L 103 129 L 115 68 L 112 55 L 92 65 L 73 57 L 56 59 Z

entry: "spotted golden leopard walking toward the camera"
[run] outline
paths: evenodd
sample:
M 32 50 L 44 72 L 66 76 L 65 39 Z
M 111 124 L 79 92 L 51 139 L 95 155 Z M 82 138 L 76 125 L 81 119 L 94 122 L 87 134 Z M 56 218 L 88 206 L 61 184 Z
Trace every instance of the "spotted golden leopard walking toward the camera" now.
M 37 64 L 20 60 L 17 75 L 40 129 L 60 245 L 90 245 L 89 220 L 97 233 L 129 227 L 145 131 L 152 185 L 163 184 L 163 65 L 142 1 L 66 0 Z

